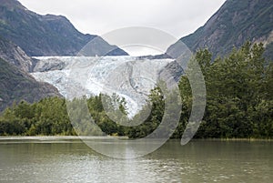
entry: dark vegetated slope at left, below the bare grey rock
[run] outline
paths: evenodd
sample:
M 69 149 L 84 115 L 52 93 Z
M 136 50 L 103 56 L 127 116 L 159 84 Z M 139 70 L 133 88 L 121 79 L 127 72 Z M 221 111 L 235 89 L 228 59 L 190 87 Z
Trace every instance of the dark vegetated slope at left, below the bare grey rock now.
M 21 100 L 32 103 L 53 96 L 61 97 L 55 86 L 37 82 L 33 76 L 0 58 L 0 111 Z

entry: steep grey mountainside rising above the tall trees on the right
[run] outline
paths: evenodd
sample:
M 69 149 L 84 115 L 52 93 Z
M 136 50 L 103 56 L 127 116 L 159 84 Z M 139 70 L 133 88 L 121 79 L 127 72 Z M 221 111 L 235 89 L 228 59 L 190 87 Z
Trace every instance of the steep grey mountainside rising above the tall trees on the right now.
M 192 51 L 208 48 L 214 56 L 226 56 L 246 41 L 265 44 L 265 56 L 273 60 L 273 0 L 227 0 L 207 23 L 180 39 Z M 177 52 L 178 43 L 167 49 Z

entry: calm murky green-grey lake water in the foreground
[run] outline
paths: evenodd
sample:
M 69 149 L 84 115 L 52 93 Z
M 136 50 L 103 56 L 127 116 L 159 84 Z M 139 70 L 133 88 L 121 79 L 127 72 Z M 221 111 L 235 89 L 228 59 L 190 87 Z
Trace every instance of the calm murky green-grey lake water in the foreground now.
M 273 142 L 170 140 L 143 158 L 107 158 L 79 139 L 1 139 L 0 182 L 272 182 Z

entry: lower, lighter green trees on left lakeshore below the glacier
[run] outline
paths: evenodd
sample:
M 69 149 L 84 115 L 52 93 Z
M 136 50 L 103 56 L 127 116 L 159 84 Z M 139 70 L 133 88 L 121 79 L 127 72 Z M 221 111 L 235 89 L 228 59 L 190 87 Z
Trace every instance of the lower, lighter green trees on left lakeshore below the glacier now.
M 123 98 L 108 97 L 99 95 L 97 97 L 75 98 L 70 103 L 76 105 L 76 114 L 68 115 L 67 101 L 65 98 L 49 97 L 41 101 L 28 104 L 21 101 L 18 105 L 8 107 L 0 117 L 0 136 L 75 136 L 75 135 L 114 135 L 125 136 L 124 129 L 117 125 L 106 115 L 102 99 L 109 99 L 113 102 L 115 98 L 118 104 L 115 110 L 124 111 L 126 114 L 125 100 Z M 81 104 L 81 105 L 77 105 Z M 92 118 L 96 125 L 101 128 L 92 126 L 92 121 L 89 118 L 83 117 L 80 113 L 82 107 L 86 104 L 88 112 L 92 114 Z M 76 127 L 71 123 L 71 118 L 81 117 L 76 121 L 80 127 Z M 120 119 L 120 118 L 119 118 Z M 91 131 L 90 131 L 91 130 Z M 104 132 L 104 133 L 102 133 Z

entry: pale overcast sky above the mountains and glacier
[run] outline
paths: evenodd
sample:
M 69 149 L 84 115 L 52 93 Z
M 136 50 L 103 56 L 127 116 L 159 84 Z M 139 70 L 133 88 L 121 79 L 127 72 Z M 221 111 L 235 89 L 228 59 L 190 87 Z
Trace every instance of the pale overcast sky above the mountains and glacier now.
M 148 26 L 177 38 L 187 36 L 204 25 L 225 2 L 225 0 L 19 1 L 41 15 L 65 15 L 82 33 L 101 36 L 122 27 Z

